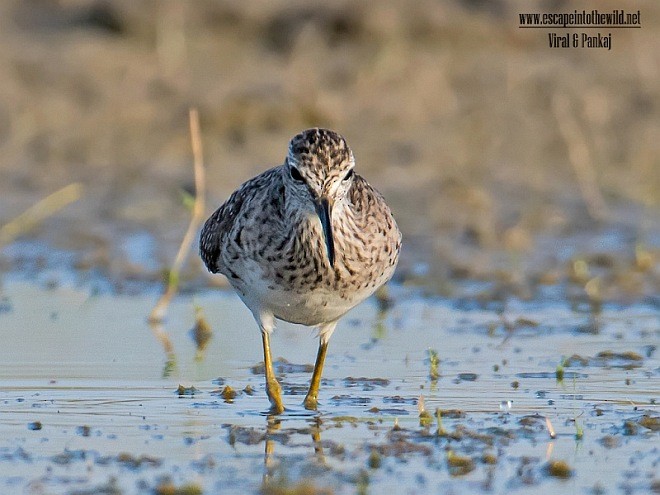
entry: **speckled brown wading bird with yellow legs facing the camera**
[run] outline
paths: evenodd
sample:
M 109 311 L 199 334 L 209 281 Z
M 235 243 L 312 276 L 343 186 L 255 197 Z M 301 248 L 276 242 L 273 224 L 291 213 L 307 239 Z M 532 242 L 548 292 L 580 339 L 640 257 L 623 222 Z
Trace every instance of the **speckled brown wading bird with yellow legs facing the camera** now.
M 337 322 L 388 282 L 399 260 L 402 236 L 392 212 L 354 167 L 340 134 L 304 130 L 290 140 L 282 165 L 241 185 L 201 230 L 204 264 L 227 277 L 261 332 L 272 414 L 285 410 L 271 357 L 275 319 L 318 330 L 303 402 L 317 410 Z

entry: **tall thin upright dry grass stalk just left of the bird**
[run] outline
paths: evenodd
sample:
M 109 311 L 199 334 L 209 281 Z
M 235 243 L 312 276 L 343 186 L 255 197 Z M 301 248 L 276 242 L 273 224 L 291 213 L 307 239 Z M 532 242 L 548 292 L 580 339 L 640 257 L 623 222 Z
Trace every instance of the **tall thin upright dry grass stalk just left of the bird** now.
M 163 321 L 167 307 L 170 301 L 176 294 L 179 287 L 179 273 L 181 267 L 188 257 L 192 242 L 199 230 L 199 227 L 204 220 L 205 212 L 205 189 L 206 189 L 206 174 L 204 171 L 204 158 L 202 152 L 202 138 L 199 129 L 199 113 L 197 109 L 190 109 L 190 140 L 192 143 L 193 162 L 195 169 L 195 203 L 193 204 L 192 217 L 188 224 L 188 230 L 183 236 L 179 251 L 176 253 L 176 258 L 170 268 L 170 273 L 167 280 L 167 287 L 165 292 L 158 300 L 154 308 L 149 314 L 150 322 Z

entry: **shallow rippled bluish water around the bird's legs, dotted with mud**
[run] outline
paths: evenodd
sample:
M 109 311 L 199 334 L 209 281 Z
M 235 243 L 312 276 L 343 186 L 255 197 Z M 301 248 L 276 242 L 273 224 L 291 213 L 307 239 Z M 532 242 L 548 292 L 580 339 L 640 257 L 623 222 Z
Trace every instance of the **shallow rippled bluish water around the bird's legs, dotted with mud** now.
M 391 292 L 390 309 L 370 300 L 340 322 L 319 412 L 300 405 L 310 373 L 289 366 L 287 411 L 273 418 L 252 370 L 262 360 L 256 325 L 233 293 L 180 296 L 164 326 L 150 328 L 152 295 L 6 282 L 0 492 L 658 489 L 656 308 L 606 306 L 594 325 L 562 303 L 512 301 L 500 316 Z M 201 353 L 195 306 L 213 330 Z M 304 327 L 280 324 L 272 344 L 290 363 L 313 363 L 317 342 Z M 226 385 L 238 392 L 231 402 L 219 393 Z M 568 478 L 549 474 L 555 460 Z

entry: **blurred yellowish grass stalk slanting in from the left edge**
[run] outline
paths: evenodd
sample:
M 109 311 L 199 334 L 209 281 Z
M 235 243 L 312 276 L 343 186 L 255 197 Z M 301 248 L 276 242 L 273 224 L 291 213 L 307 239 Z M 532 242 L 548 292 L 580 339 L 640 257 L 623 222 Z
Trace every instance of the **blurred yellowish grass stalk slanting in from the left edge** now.
M 32 205 L 9 223 L 0 227 L 0 246 L 9 244 L 17 237 L 32 230 L 55 212 L 80 199 L 83 189 L 81 183 L 74 182 Z

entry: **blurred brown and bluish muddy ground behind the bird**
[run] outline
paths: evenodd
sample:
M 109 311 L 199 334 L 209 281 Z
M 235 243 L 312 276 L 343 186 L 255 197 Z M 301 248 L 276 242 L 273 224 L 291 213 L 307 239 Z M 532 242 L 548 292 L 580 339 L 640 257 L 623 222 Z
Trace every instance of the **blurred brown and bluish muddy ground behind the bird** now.
M 0 226 L 80 186 L 5 231 L 0 269 L 159 282 L 190 218 L 196 107 L 209 214 L 325 126 L 395 212 L 399 282 L 657 297 L 660 4 L 594 7 L 639 9 L 642 28 L 558 49 L 518 13 L 573 11 L 560 0 L 3 1 Z M 191 255 L 184 288 L 218 279 Z

